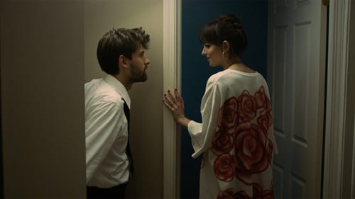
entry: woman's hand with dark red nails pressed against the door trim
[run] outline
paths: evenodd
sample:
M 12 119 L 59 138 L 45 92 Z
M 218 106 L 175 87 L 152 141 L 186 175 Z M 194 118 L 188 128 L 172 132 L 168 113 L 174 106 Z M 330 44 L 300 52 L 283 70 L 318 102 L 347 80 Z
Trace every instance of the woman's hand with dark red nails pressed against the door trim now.
M 184 99 L 180 96 L 178 89 L 175 89 L 174 93 L 168 90 L 168 93 L 164 93 L 164 98 L 163 103 L 173 113 L 175 121 L 187 127 L 190 120 L 185 117 Z

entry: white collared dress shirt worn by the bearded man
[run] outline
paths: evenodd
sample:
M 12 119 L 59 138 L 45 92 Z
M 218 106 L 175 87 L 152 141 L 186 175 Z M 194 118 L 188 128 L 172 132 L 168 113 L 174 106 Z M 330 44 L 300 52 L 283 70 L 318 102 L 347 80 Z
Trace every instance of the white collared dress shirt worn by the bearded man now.
M 131 107 L 129 93 L 109 74 L 87 82 L 84 91 L 87 186 L 110 188 L 126 183 L 129 159 L 124 101 Z

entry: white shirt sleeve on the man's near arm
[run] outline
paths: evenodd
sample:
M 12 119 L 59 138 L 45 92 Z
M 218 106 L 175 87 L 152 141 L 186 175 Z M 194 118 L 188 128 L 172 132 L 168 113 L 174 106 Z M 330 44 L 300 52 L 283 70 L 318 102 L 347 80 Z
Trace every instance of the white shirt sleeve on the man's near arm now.
M 87 182 L 107 157 L 116 137 L 124 134 L 126 119 L 123 104 L 106 101 L 94 104 L 86 123 Z

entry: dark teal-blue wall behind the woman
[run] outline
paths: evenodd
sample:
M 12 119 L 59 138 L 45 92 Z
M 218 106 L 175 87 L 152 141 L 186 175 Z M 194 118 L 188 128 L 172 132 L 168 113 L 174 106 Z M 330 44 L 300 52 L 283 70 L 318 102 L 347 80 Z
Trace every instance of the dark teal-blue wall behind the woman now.
M 233 13 L 241 19 L 249 47 L 243 62 L 266 77 L 268 33 L 267 0 L 182 0 L 182 96 L 187 118 L 201 122 L 200 102 L 209 76 L 222 67 L 209 67 L 201 55 L 198 33 L 202 25 L 220 13 Z M 192 159 L 193 149 L 187 130 L 181 133 L 181 198 L 198 198 L 200 157 Z

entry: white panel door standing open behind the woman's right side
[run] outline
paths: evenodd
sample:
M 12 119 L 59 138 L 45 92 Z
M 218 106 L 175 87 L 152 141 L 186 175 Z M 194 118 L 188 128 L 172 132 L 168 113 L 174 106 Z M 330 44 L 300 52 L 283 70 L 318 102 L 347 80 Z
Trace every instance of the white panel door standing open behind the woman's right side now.
M 268 15 L 275 198 L 320 198 L 327 6 L 269 0 Z

